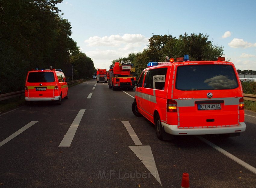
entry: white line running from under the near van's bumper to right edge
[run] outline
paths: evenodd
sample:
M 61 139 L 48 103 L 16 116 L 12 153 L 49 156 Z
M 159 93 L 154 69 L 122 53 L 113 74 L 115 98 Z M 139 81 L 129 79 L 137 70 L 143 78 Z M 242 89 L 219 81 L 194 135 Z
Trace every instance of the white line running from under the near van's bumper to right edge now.
M 210 145 L 211 147 L 213 147 L 215 150 L 218 150 L 220 153 L 223 153 L 224 155 L 226 155 L 233 161 L 237 162 L 238 164 L 242 165 L 243 167 L 247 168 L 248 170 L 250 170 L 251 172 L 256 174 L 256 168 L 254 168 L 253 166 L 247 164 L 246 162 L 242 161 L 241 159 L 237 158 L 236 156 L 233 156 L 231 153 L 223 150 L 222 148 L 211 143 L 210 141 L 206 140 L 205 138 L 203 138 L 201 136 L 196 136 L 196 137 L 199 138 L 201 141 L 205 142 L 206 144 Z

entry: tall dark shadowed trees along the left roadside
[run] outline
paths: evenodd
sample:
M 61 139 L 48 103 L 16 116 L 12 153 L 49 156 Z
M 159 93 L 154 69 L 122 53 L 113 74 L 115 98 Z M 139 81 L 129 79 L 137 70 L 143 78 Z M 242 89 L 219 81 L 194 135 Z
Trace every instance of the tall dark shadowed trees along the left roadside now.
M 24 89 L 33 68 L 65 70 L 75 64 L 76 79 L 94 72 L 92 59 L 80 53 L 71 25 L 56 7 L 62 0 L 0 1 L 0 91 Z M 79 58 L 78 56 L 81 56 Z M 83 58 L 82 58 L 83 56 Z

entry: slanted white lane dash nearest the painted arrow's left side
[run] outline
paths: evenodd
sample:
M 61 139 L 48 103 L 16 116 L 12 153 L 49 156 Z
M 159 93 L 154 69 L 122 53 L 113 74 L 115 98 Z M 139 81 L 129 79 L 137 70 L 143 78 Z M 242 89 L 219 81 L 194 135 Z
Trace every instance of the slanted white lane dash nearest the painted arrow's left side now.
M 69 127 L 69 129 L 67 130 L 66 135 L 64 136 L 64 138 L 62 139 L 59 147 L 69 147 L 74 136 L 76 133 L 76 130 L 79 126 L 79 123 L 83 117 L 83 114 L 85 112 L 85 109 L 80 110 L 78 112 L 78 114 L 76 115 L 76 118 L 74 119 L 73 123 L 71 124 L 71 126 Z

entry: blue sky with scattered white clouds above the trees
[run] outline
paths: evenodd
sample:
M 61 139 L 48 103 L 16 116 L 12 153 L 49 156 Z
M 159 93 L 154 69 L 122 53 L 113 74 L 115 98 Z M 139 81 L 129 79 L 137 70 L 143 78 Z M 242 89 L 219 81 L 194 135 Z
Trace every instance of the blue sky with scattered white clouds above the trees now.
M 186 32 L 209 35 L 236 69 L 256 70 L 255 0 L 63 0 L 57 7 L 95 68 L 142 51 L 152 34 Z

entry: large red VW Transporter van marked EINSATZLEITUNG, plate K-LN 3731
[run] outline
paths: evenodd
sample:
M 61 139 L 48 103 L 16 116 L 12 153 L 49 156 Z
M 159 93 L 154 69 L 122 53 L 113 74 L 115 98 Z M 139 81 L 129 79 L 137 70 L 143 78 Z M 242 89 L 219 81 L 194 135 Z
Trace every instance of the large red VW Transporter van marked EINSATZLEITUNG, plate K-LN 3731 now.
M 234 64 L 224 60 L 189 61 L 185 55 L 149 62 L 134 81 L 133 113 L 154 123 L 159 139 L 165 133 L 238 136 L 246 128 L 242 85 Z

